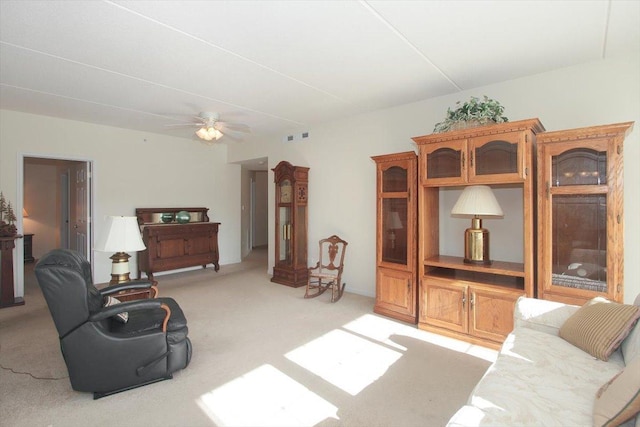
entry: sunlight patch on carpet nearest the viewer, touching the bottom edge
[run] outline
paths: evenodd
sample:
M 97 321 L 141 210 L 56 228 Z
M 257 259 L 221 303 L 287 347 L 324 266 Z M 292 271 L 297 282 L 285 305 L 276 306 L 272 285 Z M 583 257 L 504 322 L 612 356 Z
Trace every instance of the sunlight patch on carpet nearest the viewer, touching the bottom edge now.
M 197 399 L 223 426 L 314 426 L 338 408 L 271 365 L 262 365 Z

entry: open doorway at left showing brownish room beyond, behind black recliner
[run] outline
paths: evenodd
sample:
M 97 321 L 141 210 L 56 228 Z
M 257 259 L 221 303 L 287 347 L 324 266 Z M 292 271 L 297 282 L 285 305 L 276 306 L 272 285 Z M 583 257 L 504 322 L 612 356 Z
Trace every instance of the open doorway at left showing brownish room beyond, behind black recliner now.
M 29 235 L 29 259 L 36 262 L 52 249 L 73 249 L 93 264 L 91 251 L 92 183 L 90 160 L 22 156 L 22 233 Z M 20 248 L 19 248 L 20 249 Z M 25 249 L 18 251 L 23 261 Z M 29 260 L 22 265 L 29 265 Z M 24 295 L 25 268 L 18 269 L 16 295 Z

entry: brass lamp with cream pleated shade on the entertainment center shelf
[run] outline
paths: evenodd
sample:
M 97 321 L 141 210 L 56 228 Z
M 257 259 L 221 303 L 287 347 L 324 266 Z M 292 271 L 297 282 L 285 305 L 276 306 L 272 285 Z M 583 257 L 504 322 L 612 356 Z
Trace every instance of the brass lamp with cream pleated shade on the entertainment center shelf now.
M 471 228 L 464 232 L 464 262 L 491 264 L 489 230 L 482 228 L 481 217 L 501 217 L 502 208 L 488 185 L 465 187 L 451 209 L 452 215 L 471 216 Z

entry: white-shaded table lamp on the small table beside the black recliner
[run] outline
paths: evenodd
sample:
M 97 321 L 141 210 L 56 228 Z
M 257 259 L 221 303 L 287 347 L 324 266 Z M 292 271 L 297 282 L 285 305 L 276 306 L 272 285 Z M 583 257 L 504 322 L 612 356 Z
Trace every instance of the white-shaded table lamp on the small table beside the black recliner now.
M 103 239 L 96 246 L 96 250 L 102 252 L 115 252 L 110 258 L 111 265 L 110 285 L 127 282 L 130 279 L 129 255 L 127 252 L 137 252 L 146 249 L 138 219 L 135 216 L 110 216 L 107 219 L 107 231 Z

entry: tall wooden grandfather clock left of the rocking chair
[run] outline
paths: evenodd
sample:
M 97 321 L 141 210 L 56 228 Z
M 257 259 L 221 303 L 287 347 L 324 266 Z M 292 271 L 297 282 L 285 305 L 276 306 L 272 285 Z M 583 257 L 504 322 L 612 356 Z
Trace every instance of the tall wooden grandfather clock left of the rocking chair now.
M 272 169 L 276 184 L 276 256 L 272 282 L 307 284 L 307 196 L 309 168 L 282 161 Z

